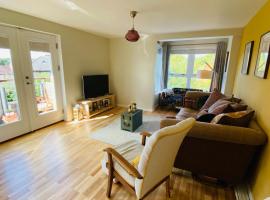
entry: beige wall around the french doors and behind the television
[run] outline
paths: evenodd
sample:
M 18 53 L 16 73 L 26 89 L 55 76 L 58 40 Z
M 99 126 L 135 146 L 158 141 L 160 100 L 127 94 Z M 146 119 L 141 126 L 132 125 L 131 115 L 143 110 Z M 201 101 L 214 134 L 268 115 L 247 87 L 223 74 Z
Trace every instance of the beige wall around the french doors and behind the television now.
M 109 72 L 109 40 L 84 31 L 0 8 L 0 23 L 7 23 L 61 36 L 67 120 L 71 105 L 82 98 L 81 76 Z

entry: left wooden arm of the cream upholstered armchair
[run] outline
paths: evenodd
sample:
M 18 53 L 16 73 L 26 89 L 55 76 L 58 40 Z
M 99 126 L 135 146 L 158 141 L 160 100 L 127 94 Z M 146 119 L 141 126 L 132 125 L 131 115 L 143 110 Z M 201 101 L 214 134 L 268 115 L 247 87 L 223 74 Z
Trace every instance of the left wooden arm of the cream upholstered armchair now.
M 114 150 L 113 148 L 106 148 L 104 149 L 105 152 L 107 152 L 108 154 L 108 158 L 109 158 L 109 165 L 111 165 L 112 163 L 110 163 L 110 158 L 114 158 L 115 160 L 117 160 L 117 162 L 131 175 L 134 176 L 137 179 L 143 179 L 142 175 L 138 172 L 138 170 L 131 165 L 121 154 L 119 154 L 116 150 Z

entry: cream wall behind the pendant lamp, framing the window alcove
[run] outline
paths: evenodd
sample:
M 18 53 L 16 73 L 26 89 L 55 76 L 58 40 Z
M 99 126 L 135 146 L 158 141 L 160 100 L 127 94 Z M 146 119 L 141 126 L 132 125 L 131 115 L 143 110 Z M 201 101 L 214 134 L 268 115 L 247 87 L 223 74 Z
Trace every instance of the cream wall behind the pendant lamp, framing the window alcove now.
M 189 33 L 153 35 L 136 43 L 122 38 L 110 40 L 111 89 L 117 94 L 118 104 L 127 106 L 135 101 L 139 107 L 152 110 L 155 102 L 154 71 L 158 40 L 233 36 L 228 67 L 226 94 L 232 94 L 242 29 L 212 30 Z

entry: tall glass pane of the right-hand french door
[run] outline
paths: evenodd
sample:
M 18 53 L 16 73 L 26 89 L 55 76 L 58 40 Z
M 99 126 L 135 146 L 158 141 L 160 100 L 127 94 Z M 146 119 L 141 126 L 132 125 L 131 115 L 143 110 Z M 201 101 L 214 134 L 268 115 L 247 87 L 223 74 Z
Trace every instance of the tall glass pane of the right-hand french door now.
M 49 44 L 30 42 L 36 107 L 39 114 L 56 110 L 55 84 Z

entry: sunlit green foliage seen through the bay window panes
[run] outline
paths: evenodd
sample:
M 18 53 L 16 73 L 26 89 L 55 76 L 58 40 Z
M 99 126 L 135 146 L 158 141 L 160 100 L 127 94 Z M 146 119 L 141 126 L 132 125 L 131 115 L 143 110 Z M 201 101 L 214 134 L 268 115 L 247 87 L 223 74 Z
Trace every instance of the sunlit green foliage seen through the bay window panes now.
M 190 80 L 190 87 L 193 89 L 202 89 L 208 91 L 210 88 L 211 80 L 210 79 L 198 79 L 197 73 L 198 70 L 211 70 L 215 62 L 215 54 L 196 54 L 194 59 L 193 66 L 193 75 Z M 174 75 L 186 75 L 188 65 L 188 55 L 187 54 L 171 54 L 170 55 L 170 65 L 169 65 L 169 74 Z M 168 78 L 168 88 L 186 88 L 187 87 L 187 78 L 186 77 L 177 77 L 169 76 Z

